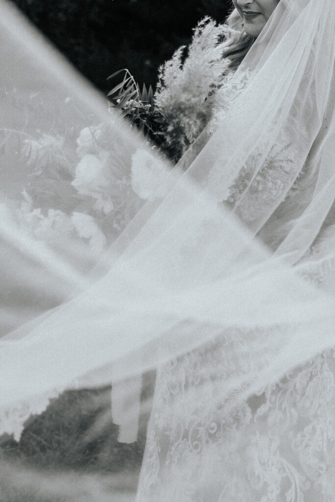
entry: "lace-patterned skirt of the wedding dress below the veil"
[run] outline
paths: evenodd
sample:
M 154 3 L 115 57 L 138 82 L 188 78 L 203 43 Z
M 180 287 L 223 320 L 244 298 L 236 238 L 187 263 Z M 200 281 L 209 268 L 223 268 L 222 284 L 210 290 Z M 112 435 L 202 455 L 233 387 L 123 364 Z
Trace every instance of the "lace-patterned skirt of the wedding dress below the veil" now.
M 137 501 L 332 500 L 334 352 L 227 413 L 217 399 L 225 349 L 218 342 L 160 371 Z

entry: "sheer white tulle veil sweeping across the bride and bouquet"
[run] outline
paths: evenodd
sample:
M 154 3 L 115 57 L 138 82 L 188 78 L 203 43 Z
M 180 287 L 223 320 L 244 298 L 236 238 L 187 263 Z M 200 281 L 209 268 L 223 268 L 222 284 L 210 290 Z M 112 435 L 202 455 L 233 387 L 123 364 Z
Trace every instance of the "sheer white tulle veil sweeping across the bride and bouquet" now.
M 149 369 L 225 339 L 229 414 L 335 345 L 333 0 L 279 2 L 174 168 L 1 5 L 0 429 L 113 381 L 131 442 Z

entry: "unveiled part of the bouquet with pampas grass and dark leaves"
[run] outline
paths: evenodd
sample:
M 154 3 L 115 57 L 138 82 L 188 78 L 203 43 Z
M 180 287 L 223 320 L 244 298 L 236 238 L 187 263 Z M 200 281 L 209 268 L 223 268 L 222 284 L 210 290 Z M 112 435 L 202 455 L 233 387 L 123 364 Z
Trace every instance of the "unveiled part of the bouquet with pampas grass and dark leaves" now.
M 194 29 L 191 44 L 182 46 L 159 68 L 155 94 L 141 92 L 128 70 L 108 94 L 111 106 L 121 110 L 161 152 L 177 162 L 208 123 L 212 96 L 227 69 L 222 59 L 226 27 L 206 17 Z

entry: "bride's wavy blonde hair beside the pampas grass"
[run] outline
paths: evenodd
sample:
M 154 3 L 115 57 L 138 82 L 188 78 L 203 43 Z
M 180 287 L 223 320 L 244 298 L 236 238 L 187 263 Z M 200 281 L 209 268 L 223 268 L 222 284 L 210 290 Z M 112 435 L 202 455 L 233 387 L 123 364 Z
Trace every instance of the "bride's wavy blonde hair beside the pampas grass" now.
M 228 16 L 225 28 L 222 40 L 224 42 L 222 57 L 230 60 L 227 71 L 235 71 L 244 60 L 256 39 L 245 33 L 237 9 L 234 9 L 230 16 Z

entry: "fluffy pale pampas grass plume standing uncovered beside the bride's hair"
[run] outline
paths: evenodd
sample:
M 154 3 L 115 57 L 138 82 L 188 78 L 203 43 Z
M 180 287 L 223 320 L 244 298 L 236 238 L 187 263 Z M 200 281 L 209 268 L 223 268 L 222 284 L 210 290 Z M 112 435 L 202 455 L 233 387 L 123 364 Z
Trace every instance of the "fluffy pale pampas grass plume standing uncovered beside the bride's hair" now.
M 229 60 L 222 59 L 226 32 L 227 26 L 204 18 L 194 29 L 188 48 L 177 49 L 159 68 L 155 105 L 164 119 L 160 148 L 175 162 L 211 116 L 212 96 L 229 65 Z

